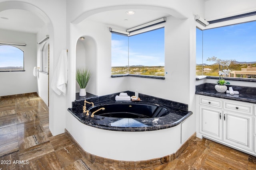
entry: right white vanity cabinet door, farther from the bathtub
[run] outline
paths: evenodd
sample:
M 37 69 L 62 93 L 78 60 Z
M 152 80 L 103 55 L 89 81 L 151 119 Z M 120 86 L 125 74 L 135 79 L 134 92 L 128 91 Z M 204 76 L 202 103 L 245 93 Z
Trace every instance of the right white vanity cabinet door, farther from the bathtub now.
M 252 151 L 252 117 L 224 111 L 223 119 L 223 141 Z

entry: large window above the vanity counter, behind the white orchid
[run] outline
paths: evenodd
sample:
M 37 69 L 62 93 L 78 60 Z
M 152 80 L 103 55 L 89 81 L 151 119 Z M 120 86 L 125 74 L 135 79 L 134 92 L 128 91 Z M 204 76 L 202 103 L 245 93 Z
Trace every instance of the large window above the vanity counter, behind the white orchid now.
M 203 31 L 197 29 L 196 75 L 219 76 L 216 59 L 220 59 L 230 61 L 228 76 L 256 78 L 255 29 L 256 21 Z

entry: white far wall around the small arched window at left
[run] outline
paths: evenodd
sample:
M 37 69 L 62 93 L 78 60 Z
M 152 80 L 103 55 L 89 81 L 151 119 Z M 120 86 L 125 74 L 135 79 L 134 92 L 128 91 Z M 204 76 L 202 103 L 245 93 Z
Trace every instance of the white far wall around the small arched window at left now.
M 3 42 L 26 43 L 16 46 L 24 51 L 24 70 L 19 72 L 0 72 L 0 96 L 37 92 L 36 77 L 33 69 L 36 66 L 36 34 L 0 29 Z

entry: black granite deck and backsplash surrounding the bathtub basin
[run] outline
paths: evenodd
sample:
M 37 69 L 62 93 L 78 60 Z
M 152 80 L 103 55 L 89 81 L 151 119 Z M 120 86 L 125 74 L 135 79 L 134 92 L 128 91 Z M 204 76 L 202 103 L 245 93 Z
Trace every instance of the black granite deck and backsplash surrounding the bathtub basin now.
M 134 92 L 126 92 L 129 96 L 134 95 Z M 106 103 L 122 103 L 116 102 L 114 99 L 114 97 L 118 94 L 119 93 L 106 96 L 96 96 L 86 100 L 88 102 L 94 102 L 94 106 Z M 92 118 L 90 115 L 86 116 L 84 113 L 82 113 L 84 100 L 76 100 L 73 102 L 72 108 L 68 108 L 68 111 L 85 125 L 112 131 L 154 131 L 166 129 L 182 123 L 185 119 L 192 115 L 192 112 L 187 110 L 188 106 L 186 104 L 155 98 L 144 94 L 140 94 L 139 97 L 142 100 L 139 103 L 158 104 L 159 106 L 165 107 L 168 111 L 170 111 L 170 113 L 162 117 L 154 118 L 116 118 L 99 115 L 94 115 Z M 89 109 L 90 104 L 86 104 L 86 108 Z

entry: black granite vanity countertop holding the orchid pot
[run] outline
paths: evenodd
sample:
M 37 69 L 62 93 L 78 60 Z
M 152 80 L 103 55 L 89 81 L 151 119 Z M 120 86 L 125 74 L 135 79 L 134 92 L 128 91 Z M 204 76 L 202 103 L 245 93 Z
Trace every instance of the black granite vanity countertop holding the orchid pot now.
M 204 84 L 197 85 L 196 94 L 256 104 L 256 88 L 255 87 L 226 85 L 228 88 L 232 87 L 234 91 L 239 92 L 239 94 L 230 95 L 230 94 L 227 94 L 226 92 L 225 93 L 217 92 L 214 88 L 215 85 L 216 84 L 213 84 L 213 83 L 204 83 Z

